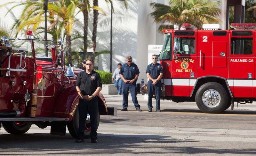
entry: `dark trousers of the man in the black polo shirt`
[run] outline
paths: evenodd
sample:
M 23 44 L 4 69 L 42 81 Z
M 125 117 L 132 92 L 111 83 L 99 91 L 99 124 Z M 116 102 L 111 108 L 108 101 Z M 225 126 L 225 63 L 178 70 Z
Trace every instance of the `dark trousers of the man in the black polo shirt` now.
M 89 111 L 91 118 L 91 139 L 97 139 L 97 116 L 98 116 L 98 98 L 92 98 L 90 101 L 85 101 L 84 99 L 79 99 L 78 105 L 79 111 L 79 128 L 77 135 L 79 139 L 84 139 L 84 128 L 85 120 L 87 118 L 87 112 Z

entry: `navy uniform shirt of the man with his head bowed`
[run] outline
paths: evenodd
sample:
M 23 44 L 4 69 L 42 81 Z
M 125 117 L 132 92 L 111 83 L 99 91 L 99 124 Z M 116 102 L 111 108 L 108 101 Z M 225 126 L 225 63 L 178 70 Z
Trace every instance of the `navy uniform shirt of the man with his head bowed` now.
M 132 63 L 131 66 L 129 66 L 127 63 L 124 63 L 119 74 L 122 74 L 126 80 L 132 80 L 135 78 L 135 74 L 140 74 L 140 71 L 136 64 Z

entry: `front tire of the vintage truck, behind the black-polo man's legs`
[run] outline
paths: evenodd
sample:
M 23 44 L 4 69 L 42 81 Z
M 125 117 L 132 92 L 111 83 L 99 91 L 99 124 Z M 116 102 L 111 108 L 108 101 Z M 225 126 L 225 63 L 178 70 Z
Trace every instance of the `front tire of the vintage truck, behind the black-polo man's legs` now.
M 79 112 L 78 112 L 78 107 L 76 108 L 73 120 L 68 122 L 67 126 L 68 126 L 68 131 L 71 134 L 72 137 L 77 139 L 77 131 L 79 128 Z M 97 129 L 99 127 L 100 124 L 100 110 L 98 108 L 98 117 L 97 117 Z M 86 127 L 90 128 L 91 125 L 85 125 Z M 85 139 L 89 139 L 90 138 L 90 133 L 91 133 L 91 129 L 90 130 L 84 130 L 84 138 Z

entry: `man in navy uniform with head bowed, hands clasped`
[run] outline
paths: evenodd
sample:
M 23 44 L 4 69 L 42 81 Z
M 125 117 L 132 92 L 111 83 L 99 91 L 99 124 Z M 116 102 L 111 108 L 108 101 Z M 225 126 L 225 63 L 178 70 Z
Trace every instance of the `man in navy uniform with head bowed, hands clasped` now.
M 127 63 L 124 63 L 119 71 L 121 78 L 123 79 L 123 109 L 121 111 L 127 111 L 128 107 L 128 95 L 129 89 L 132 96 L 132 102 L 136 108 L 136 111 L 141 112 L 140 105 L 137 100 L 137 87 L 136 82 L 139 77 L 140 71 L 136 64 L 132 63 L 132 56 L 127 56 Z

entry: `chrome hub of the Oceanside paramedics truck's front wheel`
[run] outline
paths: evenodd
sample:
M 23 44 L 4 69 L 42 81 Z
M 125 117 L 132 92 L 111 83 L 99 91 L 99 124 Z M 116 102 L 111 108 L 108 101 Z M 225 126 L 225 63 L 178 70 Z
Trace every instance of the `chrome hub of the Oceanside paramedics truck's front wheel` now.
M 216 90 L 209 89 L 204 92 L 202 100 L 206 107 L 217 107 L 220 104 L 220 93 Z

